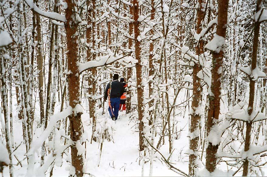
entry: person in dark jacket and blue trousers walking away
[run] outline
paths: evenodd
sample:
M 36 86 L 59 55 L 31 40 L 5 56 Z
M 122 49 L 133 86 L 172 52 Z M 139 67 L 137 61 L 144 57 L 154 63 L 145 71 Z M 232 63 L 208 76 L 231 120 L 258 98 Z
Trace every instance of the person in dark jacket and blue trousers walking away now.
M 119 75 L 113 75 L 113 81 L 107 85 L 104 95 L 104 101 L 108 98 L 108 112 L 112 120 L 118 119 L 119 108 L 120 108 L 120 99 L 124 92 L 122 83 L 118 81 Z

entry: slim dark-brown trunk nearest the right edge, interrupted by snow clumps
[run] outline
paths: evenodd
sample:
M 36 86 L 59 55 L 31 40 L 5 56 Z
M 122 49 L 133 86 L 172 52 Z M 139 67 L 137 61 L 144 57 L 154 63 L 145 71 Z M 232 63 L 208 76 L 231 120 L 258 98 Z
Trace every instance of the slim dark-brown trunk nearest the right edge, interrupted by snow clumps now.
M 262 0 L 257 1 L 256 12 L 260 10 L 260 4 Z M 258 54 L 258 41 L 259 41 L 259 30 L 260 30 L 260 22 L 255 21 L 254 25 L 254 38 L 253 38 L 253 46 L 252 46 L 252 62 L 251 62 L 251 70 L 254 70 L 257 67 L 257 54 Z M 252 111 L 254 110 L 254 95 L 255 95 L 255 80 L 250 78 L 249 83 L 249 100 L 248 100 L 248 115 L 250 116 Z M 251 137 L 251 129 L 252 122 L 246 122 L 246 138 L 245 138 L 245 152 L 249 150 L 250 146 L 250 137 Z M 243 162 L 243 176 L 248 176 L 248 159 L 246 158 Z

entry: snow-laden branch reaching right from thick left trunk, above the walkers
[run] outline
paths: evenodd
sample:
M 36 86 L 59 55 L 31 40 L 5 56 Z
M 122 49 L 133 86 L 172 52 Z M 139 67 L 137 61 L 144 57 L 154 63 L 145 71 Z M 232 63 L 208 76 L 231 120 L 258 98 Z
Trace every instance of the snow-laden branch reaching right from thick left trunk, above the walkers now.
M 82 73 L 82 72 L 84 72 L 88 69 L 91 69 L 91 68 L 101 67 L 101 66 L 106 66 L 108 64 L 112 64 L 113 62 L 120 60 L 124 57 L 127 57 L 128 62 L 135 60 L 133 57 L 129 56 L 129 54 L 121 55 L 119 57 L 113 57 L 112 55 L 106 55 L 104 57 L 100 57 L 99 61 L 91 60 L 91 61 L 87 61 L 86 63 L 77 62 L 77 65 L 79 67 L 79 72 Z

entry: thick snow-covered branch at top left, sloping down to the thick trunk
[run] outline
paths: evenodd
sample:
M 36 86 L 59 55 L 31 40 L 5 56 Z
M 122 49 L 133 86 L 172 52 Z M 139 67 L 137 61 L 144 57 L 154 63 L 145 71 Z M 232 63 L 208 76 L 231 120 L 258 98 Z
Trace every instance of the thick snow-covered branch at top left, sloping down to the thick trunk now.
M 39 15 L 42 15 L 42 16 L 47 17 L 47 18 L 51 18 L 51 19 L 56 20 L 56 21 L 66 22 L 65 15 L 61 15 L 61 14 L 56 13 L 56 12 L 42 11 L 41 9 L 39 9 L 36 6 L 35 3 L 33 3 L 33 0 L 24 0 L 24 1 L 26 2 L 26 4 L 29 6 L 29 8 L 31 10 L 35 11 Z

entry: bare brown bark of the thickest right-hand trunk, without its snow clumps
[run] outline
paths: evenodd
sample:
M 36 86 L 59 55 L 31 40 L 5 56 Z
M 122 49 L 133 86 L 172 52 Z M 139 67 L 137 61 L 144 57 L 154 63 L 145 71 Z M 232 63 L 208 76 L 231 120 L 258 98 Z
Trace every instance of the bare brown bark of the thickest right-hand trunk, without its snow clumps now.
M 227 13 L 228 0 L 218 0 L 218 24 L 216 34 L 225 38 L 227 28 Z M 207 136 L 211 129 L 218 124 L 220 114 L 220 100 L 221 100 L 221 76 L 223 67 L 224 45 L 217 53 L 213 51 L 212 56 L 212 72 L 211 72 L 211 93 L 209 93 L 209 110 L 207 116 Z M 216 131 L 214 129 L 214 131 Z M 216 153 L 219 144 L 212 144 L 208 142 L 206 150 L 206 169 L 213 172 L 216 168 Z

